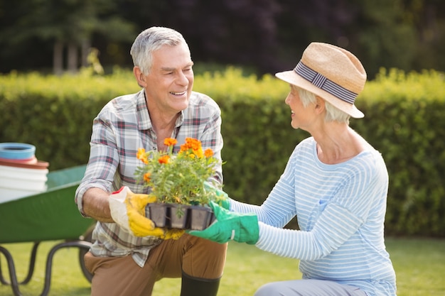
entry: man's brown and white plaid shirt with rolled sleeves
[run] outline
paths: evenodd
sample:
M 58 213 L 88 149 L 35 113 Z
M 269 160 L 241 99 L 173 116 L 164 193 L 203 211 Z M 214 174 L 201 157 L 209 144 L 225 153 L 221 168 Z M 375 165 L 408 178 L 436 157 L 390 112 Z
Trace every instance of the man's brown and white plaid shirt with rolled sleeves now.
M 171 135 L 171 138 L 178 140 L 173 152 L 177 153 L 186 137 L 191 137 L 200 140 L 204 150 L 211 148 L 214 157 L 221 159 L 223 138 L 220 115 L 220 108 L 213 99 L 192 92 L 188 108 L 181 111 Z M 117 97 L 104 106 L 93 122 L 90 146 L 87 170 L 75 193 L 75 202 L 82 215 L 86 216 L 82 209 L 83 194 L 92 187 L 114 192 L 128 186 L 134 193 L 149 192 L 149 188 L 144 188 L 134 177 L 136 167 L 141 165 L 140 160 L 136 159 L 138 148 L 157 149 L 156 133 L 151 125 L 144 90 Z M 215 179 L 223 182 L 220 165 Z M 97 222 L 93 239 L 93 255 L 132 255 L 139 266 L 144 266 L 149 250 L 161 243 L 154 236 L 132 236 L 115 223 L 102 222 Z

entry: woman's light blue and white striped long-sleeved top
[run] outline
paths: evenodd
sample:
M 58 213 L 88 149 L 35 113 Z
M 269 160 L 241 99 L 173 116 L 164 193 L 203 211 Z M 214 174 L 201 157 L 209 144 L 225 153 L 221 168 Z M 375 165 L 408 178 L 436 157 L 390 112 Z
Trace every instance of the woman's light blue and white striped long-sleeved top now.
M 377 150 L 336 165 L 318 160 L 316 141 L 299 143 L 261 207 L 254 212 L 264 251 L 300 259 L 303 278 L 354 285 L 368 296 L 396 295 L 395 271 L 383 236 L 388 175 Z M 299 229 L 283 229 L 297 216 Z

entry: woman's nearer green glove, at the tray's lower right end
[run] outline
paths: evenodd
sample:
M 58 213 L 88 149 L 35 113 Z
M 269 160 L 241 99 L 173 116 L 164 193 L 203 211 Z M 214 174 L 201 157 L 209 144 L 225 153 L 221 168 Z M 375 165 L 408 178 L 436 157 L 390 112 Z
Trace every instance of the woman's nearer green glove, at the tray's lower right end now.
M 188 231 L 193 236 L 209 239 L 217 243 L 233 240 L 238 243 L 254 245 L 258 241 L 259 226 L 256 214 L 229 212 L 210 201 L 216 221 L 202 231 Z

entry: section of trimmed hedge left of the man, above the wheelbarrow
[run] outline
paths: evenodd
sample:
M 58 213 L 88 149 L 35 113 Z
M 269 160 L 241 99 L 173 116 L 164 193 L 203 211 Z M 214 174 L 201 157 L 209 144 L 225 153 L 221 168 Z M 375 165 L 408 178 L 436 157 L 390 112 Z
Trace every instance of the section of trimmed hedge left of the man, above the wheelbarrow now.
M 92 120 L 109 99 L 139 87 L 131 73 L 0 76 L 0 141 L 32 143 L 50 170 L 86 163 Z

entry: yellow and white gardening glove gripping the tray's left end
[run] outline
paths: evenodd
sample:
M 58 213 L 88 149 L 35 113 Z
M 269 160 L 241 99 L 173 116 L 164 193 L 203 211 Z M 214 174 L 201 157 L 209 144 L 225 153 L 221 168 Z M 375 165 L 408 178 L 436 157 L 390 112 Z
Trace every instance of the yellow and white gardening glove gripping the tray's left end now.
M 184 231 L 156 227 L 145 216 L 145 207 L 156 202 L 149 194 L 135 194 L 129 187 L 122 187 L 109 197 L 109 209 L 113 220 L 134 236 L 157 236 L 160 239 L 179 239 Z

